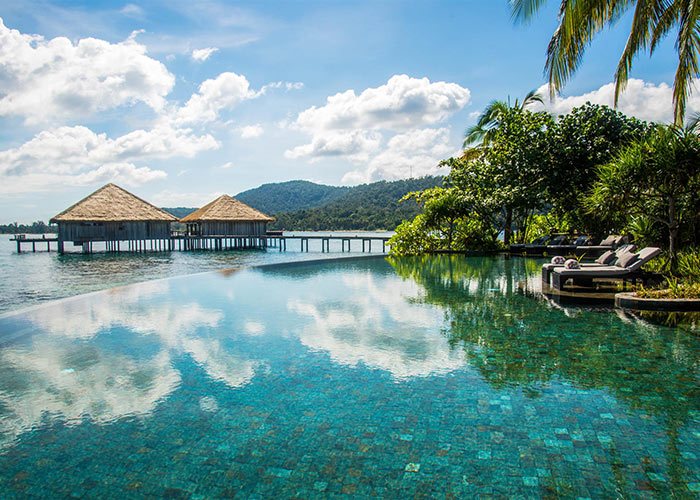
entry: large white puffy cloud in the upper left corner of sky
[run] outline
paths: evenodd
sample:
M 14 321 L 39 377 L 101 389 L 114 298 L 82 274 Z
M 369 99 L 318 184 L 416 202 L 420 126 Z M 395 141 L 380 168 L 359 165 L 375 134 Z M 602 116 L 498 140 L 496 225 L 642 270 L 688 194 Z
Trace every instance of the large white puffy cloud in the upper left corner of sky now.
M 161 110 L 175 78 L 135 34 L 116 44 L 95 38 L 74 44 L 20 33 L 0 19 L 0 116 L 37 124 L 138 102 Z

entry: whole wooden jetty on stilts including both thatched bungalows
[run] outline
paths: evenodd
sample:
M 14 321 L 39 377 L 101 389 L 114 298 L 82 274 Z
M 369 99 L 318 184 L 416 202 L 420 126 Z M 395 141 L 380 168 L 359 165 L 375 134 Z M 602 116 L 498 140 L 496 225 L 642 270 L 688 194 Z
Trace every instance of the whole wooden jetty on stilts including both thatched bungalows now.
M 374 242 L 375 249 L 381 245 L 385 253 L 389 241 L 387 236 L 372 235 L 285 235 L 282 231 L 267 230 L 267 224 L 272 221 L 272 217 L 228 195 L 178 220 L 125 189 L 107 184 L 51 219 L 51 223 L 58 225 L 56 237 L 15 235 L 11 240 L 17 244 L 17 253 L 30 248 L 32 252 L 37 249 L 50 252 L 54 243 L 58 253 L 64 253 L 66 244 L 72 244 L 86 254 L 270 247 L 284 252 L 288 243 L 294 247 L 298 243 L 299 251 L 308 252 L 309 241 L 320 241 L 321 252 L 331 252 L 331 246 L 333 251 L 351 252 L 352 242 L 357 242 L 355 251 L 361 244 L 362 252 L 372 252 Z M 184 231 L 173 230 L 175 223 L 184 225 Z

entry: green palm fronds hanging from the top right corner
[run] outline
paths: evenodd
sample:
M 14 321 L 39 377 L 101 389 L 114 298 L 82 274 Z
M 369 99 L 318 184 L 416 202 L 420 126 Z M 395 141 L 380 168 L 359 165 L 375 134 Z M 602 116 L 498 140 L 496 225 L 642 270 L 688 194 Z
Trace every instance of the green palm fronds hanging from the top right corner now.
M 612 26 L 634 7 L 632 28 L 615 71 L 615 105 L 625 89 L 634 58 L 678 27 L 678 66 L 673 82 L 673 118 L 683 125 L 693 80 L 700 75 L 700 2 L 697 0 L 560 0 L 559 26 L 547 48 L 545 71 L 552 97 L 576 72 L 586 47 L 604 28 Z M 509 0 L 513 18 L 527 21 L 546 0 Z

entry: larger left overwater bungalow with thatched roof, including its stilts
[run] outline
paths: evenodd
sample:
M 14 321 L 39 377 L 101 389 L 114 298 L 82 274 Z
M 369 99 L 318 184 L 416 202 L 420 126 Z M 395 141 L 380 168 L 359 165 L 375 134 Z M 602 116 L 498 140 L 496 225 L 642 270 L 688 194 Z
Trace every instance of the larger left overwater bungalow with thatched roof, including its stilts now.
M 58 225 L 61 253 L 66 241 L 81 245 L 84 253 L 95 242 L 108 252 L 171 250 L 173 222 L 175 216 L 111 183 L 51 219 Z

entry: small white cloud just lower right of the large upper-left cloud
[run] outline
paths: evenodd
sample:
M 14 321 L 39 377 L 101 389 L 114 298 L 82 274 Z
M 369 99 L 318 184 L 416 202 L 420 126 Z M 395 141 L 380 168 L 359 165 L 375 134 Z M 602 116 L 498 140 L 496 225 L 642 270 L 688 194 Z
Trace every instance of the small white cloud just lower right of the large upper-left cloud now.
M 212 122 L 219 117 L 221 111 L 231 109 L 239 102 L 256 96 L 245 76 L 231 72 L 221 73 L 214 79 L 205 80 L 199 86 L 197 93 L 177 111 L 175 122 Z

